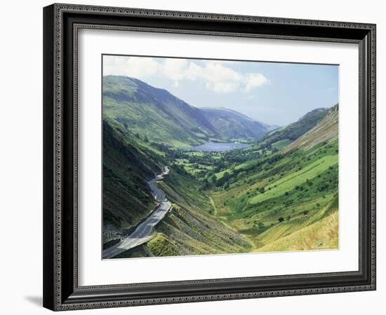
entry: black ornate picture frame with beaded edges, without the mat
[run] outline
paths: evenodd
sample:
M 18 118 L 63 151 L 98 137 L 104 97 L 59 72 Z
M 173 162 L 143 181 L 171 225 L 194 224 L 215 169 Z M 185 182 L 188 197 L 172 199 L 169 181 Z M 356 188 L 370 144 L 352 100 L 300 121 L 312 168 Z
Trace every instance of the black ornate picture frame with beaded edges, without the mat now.
M 359 270 L 79 286 L 79 29 L 359 44 Z M 44 8 L 44 307 L 55 311 L 375 290 L 375 25 L 135 8 Z

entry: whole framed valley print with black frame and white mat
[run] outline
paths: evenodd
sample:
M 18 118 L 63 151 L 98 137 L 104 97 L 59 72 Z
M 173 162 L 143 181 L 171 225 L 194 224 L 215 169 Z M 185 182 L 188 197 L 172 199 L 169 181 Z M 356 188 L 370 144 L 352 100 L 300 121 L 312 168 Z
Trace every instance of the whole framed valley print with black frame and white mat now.
M 44 307 L 375 290 L 375 25 L 44 8 Z

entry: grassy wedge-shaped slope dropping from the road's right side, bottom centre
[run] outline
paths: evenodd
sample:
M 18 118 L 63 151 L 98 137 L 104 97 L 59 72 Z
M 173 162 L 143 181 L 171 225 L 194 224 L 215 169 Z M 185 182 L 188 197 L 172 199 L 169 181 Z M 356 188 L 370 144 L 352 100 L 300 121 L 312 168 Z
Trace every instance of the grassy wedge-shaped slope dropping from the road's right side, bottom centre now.
M 173 167 L 159 187 L 173 210 L 157 226 L 157 235 L 146 246 L 147 252 L 128 251 L 125 257 L 240 253 L 251 250 L 251 243 L 214 217 L 213 204 L 198 190 L 200 183 Z M 121 257 L 123 257 L 121 255 Z

